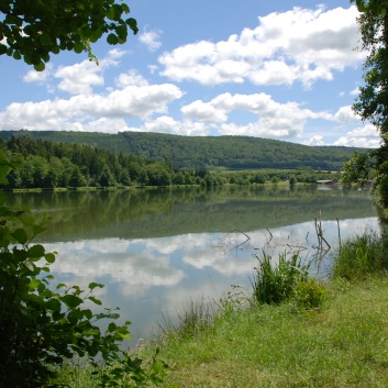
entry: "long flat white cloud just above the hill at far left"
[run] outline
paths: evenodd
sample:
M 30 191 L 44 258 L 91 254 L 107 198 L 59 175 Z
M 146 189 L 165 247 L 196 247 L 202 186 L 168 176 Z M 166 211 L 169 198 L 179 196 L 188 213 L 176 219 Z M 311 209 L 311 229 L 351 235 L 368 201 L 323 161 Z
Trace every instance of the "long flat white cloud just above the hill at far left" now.
M 67 100 L 14 102 L 0 112 L 0 121 L 10 130 L 96 131 L 90 122 L 97 120 L 101 132 L 112 132 L 111 126 L 102 128 L 103 123 L 111 123 L 107 119 L 146 119 L 154 113 L 165 113 L 168 104 L 181 96 L 182 91 L 171 84 L 128 86 L 107 96 L 80 95 Z M 114 128 L 126 130 L 123 121 Z

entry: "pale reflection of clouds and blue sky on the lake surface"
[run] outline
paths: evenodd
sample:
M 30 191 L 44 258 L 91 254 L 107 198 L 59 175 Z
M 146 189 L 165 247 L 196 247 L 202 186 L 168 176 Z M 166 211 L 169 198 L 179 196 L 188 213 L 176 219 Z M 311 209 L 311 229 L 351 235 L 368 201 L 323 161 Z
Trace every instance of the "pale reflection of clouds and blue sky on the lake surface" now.
M 377 229 L 377 218 L 340 222 L 342 239 Z M 336 221 L 322 222 L 324 235 L 337 245 Z M 317 244 L 313 222 L 250 232 L 248 245 L 220 248 L 223 233 L 184 234 L 162 239 L 102 239 L 44 244 L 59 255 L 52 266 L 58 281 L 87 287 L 99 281 L 106 288 L 99 297 L 107 307 L 121 307 L 124 320 L 131 320 L 134 339 L 155 331 L 162 313 L 173 313 L 189 300 L 219 299 L 231 285 L 250 288 L 250 275 L 256 265 L 253 254 L 260 248 L 276 255 L 292 244 Z M 271 235 L 271 237 L 270 237 Z M 241 241 L 236 239 L 236 241 Z M 307 254 L 306 252 L 306 254 Z

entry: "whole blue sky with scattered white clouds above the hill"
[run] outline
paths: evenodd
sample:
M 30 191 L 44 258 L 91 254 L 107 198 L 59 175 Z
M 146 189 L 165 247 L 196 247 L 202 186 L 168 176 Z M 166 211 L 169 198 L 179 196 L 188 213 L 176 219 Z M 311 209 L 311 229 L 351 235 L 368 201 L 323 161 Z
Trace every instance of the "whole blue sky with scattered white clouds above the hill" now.
M 0 57 L 0 130 L 248 135 L 376 147 L 351 106 L 365 53 L 346 0 L 128 1 L 140 33 L 43 73 Z

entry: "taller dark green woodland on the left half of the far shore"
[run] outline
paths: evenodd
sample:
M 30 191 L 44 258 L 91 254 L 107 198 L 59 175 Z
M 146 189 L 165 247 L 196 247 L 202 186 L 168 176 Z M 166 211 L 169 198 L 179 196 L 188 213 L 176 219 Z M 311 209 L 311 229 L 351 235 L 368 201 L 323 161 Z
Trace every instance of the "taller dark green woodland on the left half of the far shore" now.
M 174 171 L 169 160 L 151 162 L 87 145 L 13 136 L 1 140 L 0 146 L 22 162 L 20 169 L 8 174 L 10 188 L 207 185 L 210 179 L 203 169 Z

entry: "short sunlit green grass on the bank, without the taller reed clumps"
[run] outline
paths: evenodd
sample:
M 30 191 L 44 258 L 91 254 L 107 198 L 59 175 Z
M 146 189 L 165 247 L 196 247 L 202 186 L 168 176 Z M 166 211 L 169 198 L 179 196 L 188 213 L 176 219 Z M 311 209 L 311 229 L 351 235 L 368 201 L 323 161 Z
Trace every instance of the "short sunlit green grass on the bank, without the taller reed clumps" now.
M 311 311 L 226 306 L 197 333 L 169 333 L 160 357 L 166 387 L 388 387 L 388 278 L 332 281 Z

